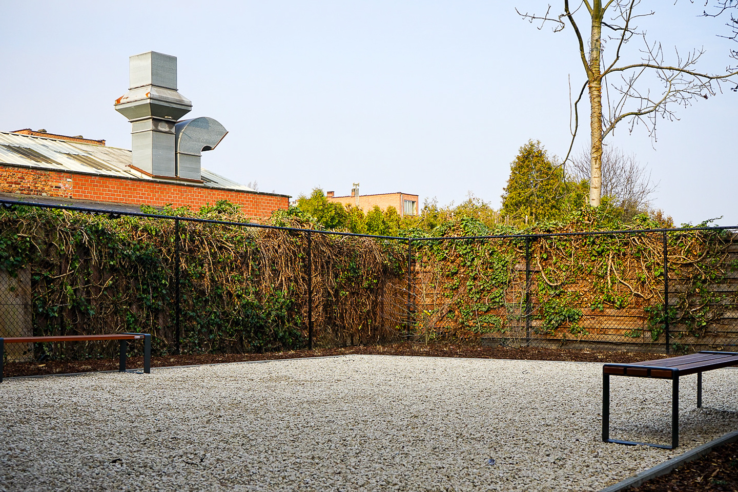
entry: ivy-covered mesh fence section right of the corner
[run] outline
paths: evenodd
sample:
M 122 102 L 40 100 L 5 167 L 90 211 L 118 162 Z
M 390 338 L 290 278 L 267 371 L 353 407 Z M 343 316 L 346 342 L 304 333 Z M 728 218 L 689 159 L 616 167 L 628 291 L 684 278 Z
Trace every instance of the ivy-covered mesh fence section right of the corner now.
M 730 228 L 413 242 L 418 338 L 666 353 L 738 342 Z

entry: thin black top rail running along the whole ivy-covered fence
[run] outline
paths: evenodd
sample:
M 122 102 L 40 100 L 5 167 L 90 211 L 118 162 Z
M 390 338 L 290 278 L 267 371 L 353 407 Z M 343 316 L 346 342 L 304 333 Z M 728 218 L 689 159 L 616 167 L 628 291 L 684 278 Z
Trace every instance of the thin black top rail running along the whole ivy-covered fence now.
M 314 232 L 316 234 L 325 235 L 336 235 L 336 236 L 351 236 L 356 238 L 372 238 L 372 239 L 387 239 L 387 240 L 401 240 L 401 241 L 449 241 L 449 240 L 475 240 L 475 239 L 523 239 L 523 240 L 537 240 L 539 238 L 556 238 L 566 236 L 603 236 L 603 235 L 618 235 L 618 234 L 645 234 L 655 232 L 695 232 L 695 231 L 725 231 L 730 229 L 738 229 L 737 226 L 700 226 L 700 227 L 675 227 L 673 229 L 621 229 L 615 231 L 582 231 L 582 232 L 544 232 L 537 234 L 508 234 L 508 235 L 486 235 L 486 236 L 445 236 L 441 238 L 403 238 L 400 236 L 380 236 L 372 234 L 358 234 L 356 232 L 339 232 L 339 231 L 325 231 L 322 229 L 301 229 L 298 227 L 285 227 L 285 226 L 269 226 L 266 224 L 253 224 L 251 222 L 234 222 L 234 221 L 216 221 L 214 219 L 207 218 L 196 218 L 196 217 L 180 217 L 179 215 L 158 215 L 148 214 L 145 212 L 128 212 L 125 210 L 109 210 L 109 209 L 97 209 L 88 207 L 75 207 L 73 205 L 52 205 L 52 204 L 38 204 L 29 201 L 17 201 L 7 200 L 0 198 L 0 205 L 4 207 L 12 207 L 17 205 L 19 207 L 36 207 L 44 209 L 58 209 L 58 210 L 69 210 L 70 212 L 83 212 L 92 215 L 108 215 L 110 218 L 120 218 L 123 215 L 131 217 L 142 217 L 142 218 L 155 218 L 168 221 L 185 221 L 194 222 L 199 224 L 215 224 L 221 226 L 240 226 L 240 227 L 253 227 L 256 229 L 278 229 L 289 232 Z

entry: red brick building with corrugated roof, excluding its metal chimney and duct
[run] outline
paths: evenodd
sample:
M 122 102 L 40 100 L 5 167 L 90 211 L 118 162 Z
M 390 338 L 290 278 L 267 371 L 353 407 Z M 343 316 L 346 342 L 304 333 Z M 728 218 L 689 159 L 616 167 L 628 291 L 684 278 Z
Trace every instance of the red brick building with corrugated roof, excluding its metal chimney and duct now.
M 228 200 L 253 218 L 289 206 L 288 195 L 261 193 L 206 169 L 200 179 L 152 176 L 131 161 L 131 150 L 107 147 L 104 140 L 29 129 L 0 132 L 0 195 L 81 206 L 125 204 L 129 209 L 142 204 L 199 209 Z

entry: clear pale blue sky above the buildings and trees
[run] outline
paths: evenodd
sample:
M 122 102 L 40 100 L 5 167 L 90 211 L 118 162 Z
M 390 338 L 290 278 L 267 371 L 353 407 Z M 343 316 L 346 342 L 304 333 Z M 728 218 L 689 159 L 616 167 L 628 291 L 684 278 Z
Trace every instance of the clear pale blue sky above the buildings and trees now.
M 704 46 L 700 66 L 723 72 L 723 21 L 697 17 L 702 4 L 649 3 L 658 10 L 641 27 L 667 55 Z M 360 182 L 362 194 L 449 204 L 471 191 L 499 207 L 528 139 L 565 154 L 568 80 L 584 80 L 573 32 L 537 30 L 516 4 L 541 13 L 548 3 L 7 2 L 0 130 L 130 148 L 131 125 L 113 102 L 128 89 L 128 56 L 154 50 L 178 58 L 187 117 L 230 131 L 204 153 L 216 173 L 295 197 L 313 187 L 348 194 Z M 660 120 L 656 142 L 622 125 L 610 143 L 648 164 L 661 182 L 655 206 L 677 224 L 720 215 L 738 224 L 737 110 L 738 94 L 726 91 Z

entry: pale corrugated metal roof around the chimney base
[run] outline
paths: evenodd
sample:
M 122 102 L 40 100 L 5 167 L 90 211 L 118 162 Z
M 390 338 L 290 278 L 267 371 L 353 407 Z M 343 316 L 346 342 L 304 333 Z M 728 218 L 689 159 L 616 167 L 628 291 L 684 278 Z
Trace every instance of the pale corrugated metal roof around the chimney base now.
M 131 150 L 128 149 L 0 132 L 0 164 L 102 174 L 142 181 L 179 182 L 176 179 L 147 176 L 131 169 L 131 162 Z M 201 170 L 201 179 L 204 187 L 255 191 L 207 169 Z

